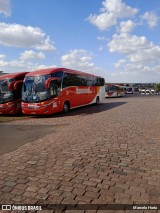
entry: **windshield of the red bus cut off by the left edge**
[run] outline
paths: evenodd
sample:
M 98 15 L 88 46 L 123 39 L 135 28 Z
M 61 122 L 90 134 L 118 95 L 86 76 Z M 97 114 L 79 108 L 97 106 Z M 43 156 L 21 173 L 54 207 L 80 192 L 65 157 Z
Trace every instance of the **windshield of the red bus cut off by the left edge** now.
M 13 90 L 9 91 L 8 85 L 12 81 L 9 79 L 0 80 L 0 103 L 7 103 L 13 100 Z

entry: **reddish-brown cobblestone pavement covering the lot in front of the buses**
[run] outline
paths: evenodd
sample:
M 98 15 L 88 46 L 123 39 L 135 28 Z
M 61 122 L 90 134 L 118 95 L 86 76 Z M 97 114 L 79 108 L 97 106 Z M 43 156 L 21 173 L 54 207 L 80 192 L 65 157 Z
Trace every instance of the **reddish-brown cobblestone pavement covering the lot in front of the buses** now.
M 159 96 L 110 98 L 67 116 L 9 123 L 41 124 L 62 127 L 0 155 L 1 204 L 160 203 Z

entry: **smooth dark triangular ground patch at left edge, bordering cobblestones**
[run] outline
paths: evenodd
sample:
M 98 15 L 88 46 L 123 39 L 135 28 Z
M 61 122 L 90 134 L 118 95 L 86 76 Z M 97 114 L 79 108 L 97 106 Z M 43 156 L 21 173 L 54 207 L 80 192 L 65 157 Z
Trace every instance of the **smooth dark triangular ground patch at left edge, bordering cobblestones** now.
M 56 132 L 65 125 L 8 125 L 0 124 L 0 154 L 16 150 L 28 142 L 33 142 Z

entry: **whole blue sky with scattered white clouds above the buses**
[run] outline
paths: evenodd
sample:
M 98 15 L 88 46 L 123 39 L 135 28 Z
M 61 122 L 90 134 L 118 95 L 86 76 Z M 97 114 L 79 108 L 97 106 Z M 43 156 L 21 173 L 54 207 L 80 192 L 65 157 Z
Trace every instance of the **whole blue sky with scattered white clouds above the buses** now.
M 0 70 L 160 82 L 159 0 L 0 0 Z

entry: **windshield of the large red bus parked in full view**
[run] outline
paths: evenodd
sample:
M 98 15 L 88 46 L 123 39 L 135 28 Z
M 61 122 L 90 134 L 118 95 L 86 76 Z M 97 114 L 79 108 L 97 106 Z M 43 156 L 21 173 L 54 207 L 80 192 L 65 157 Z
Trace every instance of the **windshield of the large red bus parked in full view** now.
M 26 76 L 22 88 L 22 100 L 25 102 L 39 102 L 55 96 L 53 92 L 51 93 L 50 88 L 46 89 L 45 83 L 48 78 L 50 78 L 50 75 Z

